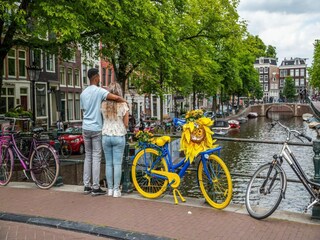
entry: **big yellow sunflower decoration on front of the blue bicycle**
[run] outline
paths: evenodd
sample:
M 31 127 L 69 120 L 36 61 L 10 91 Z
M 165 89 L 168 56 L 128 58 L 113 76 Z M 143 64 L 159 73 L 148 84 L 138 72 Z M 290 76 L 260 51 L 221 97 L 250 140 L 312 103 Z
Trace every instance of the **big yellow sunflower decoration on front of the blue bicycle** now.
M 192 110 L 186 114 L 187 123 L 183 125 L 180 150 L 184 151 L 186 159 L 193 162 L 195 157 L 207 149 L 214 148 L 216 139 L 212 139 L 210 126 L 213 121 L 204 117 L 202 110 Z

